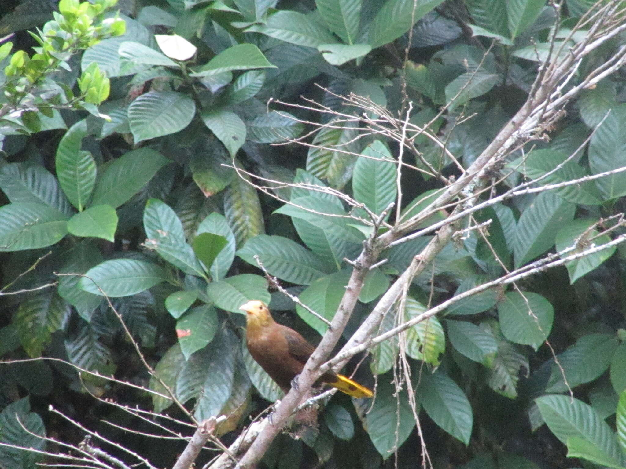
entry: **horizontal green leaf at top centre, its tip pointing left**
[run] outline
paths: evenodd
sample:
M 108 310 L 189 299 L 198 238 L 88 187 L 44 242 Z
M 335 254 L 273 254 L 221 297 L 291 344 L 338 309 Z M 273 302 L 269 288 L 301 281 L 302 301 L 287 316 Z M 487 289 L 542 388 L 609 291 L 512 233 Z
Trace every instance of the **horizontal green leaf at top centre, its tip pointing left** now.
M 337 42 L 317 16 L 297 11 L 277 11 L 267 18 L 265 24 L 254 24 L 246 32 L 267 34 L 286 43 L 310 48 Z

